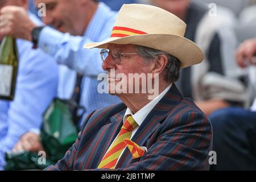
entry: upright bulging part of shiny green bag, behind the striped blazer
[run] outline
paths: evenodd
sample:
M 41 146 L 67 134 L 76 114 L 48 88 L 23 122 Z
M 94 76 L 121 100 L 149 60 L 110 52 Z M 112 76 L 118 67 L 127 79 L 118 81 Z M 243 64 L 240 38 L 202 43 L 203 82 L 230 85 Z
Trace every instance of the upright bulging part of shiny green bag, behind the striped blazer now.
M 74 107 L 83 109 L 76 102 L 56 98 L 44 114 L 40 139 L 47 154 L 56 160 L 63 158 L 76 141 L 79 129 L 71 114 Z

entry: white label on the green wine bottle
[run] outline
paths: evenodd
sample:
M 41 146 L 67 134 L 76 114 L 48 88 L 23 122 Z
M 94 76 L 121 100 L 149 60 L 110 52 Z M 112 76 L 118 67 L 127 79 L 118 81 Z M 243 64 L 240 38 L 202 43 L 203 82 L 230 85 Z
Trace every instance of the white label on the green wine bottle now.
M 13 79 L 13 66 L 0 64 L 0 96 L 11 95 L 11 81 Z

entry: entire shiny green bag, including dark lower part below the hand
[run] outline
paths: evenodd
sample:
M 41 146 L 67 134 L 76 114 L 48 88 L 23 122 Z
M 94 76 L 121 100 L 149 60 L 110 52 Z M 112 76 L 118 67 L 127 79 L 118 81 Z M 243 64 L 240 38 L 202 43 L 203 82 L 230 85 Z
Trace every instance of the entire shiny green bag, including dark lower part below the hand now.
M 79 116 L 73 116 L 73 109 L 81 109 Z M 40 140 L 46 151 L 46 164 L 39 164 L 40 155 L 36 152 L 20 152 L 6 154 L 5 170 L 44 169 L 55 164 L 65 155 L 65 152 L 75 143 L 78 127 L 77 123 L 85 109 L 70 100 L 55 98 L 47 108 L 43 117 Z

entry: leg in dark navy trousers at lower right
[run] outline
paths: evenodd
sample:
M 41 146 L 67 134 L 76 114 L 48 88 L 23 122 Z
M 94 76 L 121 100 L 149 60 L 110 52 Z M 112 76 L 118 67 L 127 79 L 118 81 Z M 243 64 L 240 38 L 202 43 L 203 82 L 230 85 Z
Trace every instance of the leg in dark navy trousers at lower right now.
M 213 170 L 256 169 L 256 112 L 236 107 L 217 110 L 209 119 L 217 165 Z

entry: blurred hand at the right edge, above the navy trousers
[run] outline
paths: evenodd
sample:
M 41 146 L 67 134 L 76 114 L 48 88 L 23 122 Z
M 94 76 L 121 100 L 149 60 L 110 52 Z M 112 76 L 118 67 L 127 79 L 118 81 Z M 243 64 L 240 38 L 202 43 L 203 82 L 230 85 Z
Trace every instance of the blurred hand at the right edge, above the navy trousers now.
M 246 40 L 236 51 L 237 64 L 242 68 L 247 67 L 249 64 L 256 65 L 256 60 L 253 58 L 254 55 L 256 55 L 256 39 Z

